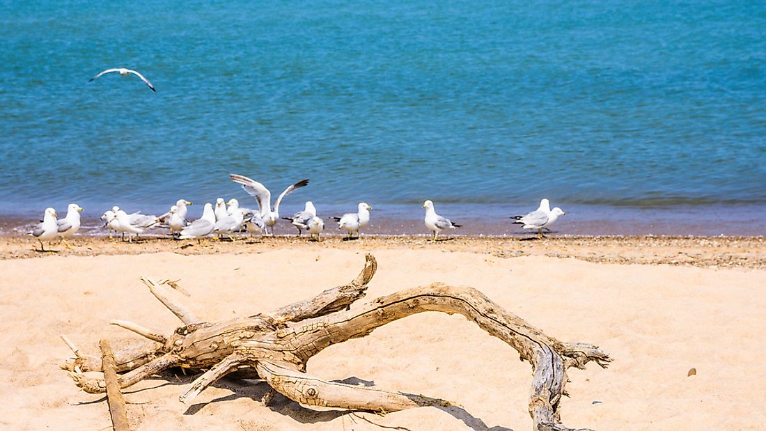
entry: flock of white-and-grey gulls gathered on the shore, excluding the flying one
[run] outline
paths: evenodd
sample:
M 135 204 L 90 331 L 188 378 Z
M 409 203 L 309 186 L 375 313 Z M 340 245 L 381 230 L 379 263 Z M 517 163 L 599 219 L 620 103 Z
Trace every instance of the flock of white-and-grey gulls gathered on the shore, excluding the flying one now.
M 277 220 L 280 220 L 280 203 L 288 194 L 309 184 L 307 179 L 290 184 L 279 195 L 272 207 L 271 192 L 264 184 L 244 175 L 231 174 L 229 178 L 240 184 L 247 194 L 255 198 L 258 210 L 241 207 L 239 201 L 234 198 L 229 201 L 218 198 L 214 205 L 205 204 L 200 218 L 190 221 L 187 219 L 187 214 L 188 205 L 191 205 L 191 202 L 178 199 L 168 212 L 160 216 L 141 214 L 140 211 L 127 214 L 115 206 L 110 211 L 106 211 L 101 216 L 101 220 L 104 222 L 104 227 L 109 229 L 110 238 L 113 237 L 113 233 L 122 233 L 123 240 L 125 233 L 133 233 L 137 237 L 152 227 L 165 227 L 172 237 L 179 240 L 200 240 L 211 234 L 217 234 L 218 237 L 227 235 L 233 240 L 234 233 L 243 231 L 250 234 L 259 233 L 273 236 L 273 227 L 277 224 Z M 453 230 L 462 226 L 437 214 L 433 201 L 425 201 L 423 207 L 426 211 L 424 224 L 428 230 L 434 233 L 434 241 L 437 240 L 439 233 L 443 230 Z M 369 224 L 370 210 L 372 210 L 370 205 L 360 202 L 355 213 L 343 214 L 342 217 L 332 217 L 332 219 L 338 223 L 338 229 L 345 230 L 347 238 L 352 239 L 354 236 L 359 237 L 359 231 Z M 45 251 L 44 240 L 47 240 L 50 245 L 50 241 L 56 237 L 61 237 L 64 244 L 69 247 L 64 238 L 74 235 L 80 229 L 80 211 L 83 211 L 80 205 L 70 204 L 67 216 L 57 220 L 54 208 L 49 207 L 45 210 L 43 220 L 31 232 L 40 241 L 41 251 Z M 543 199 L 535 211 L 511 218 L 514 220 L 514 224 L 521 224 L 524 229 L 538 230 L 538 237 L 542 237 L 542 230 L 549 230 L 548 226 L 564 214 L 565 212 L 561 211 L 559 207 L 551 210 L 548 199 Z M 299 236 L 306 230 L 309 233 L 309 238 L 313 240 L 320 240 L 319 236 L 325 228 L 325 222 L 322 217 L 316 214 L 316 207 L 312 201 L 306 201 L 303 211 L 298 211 L 290 217 L 281 218 L 290 221 L 290 224 L 298 230 Z M 133 240 L 130 235 L 128 240 Z

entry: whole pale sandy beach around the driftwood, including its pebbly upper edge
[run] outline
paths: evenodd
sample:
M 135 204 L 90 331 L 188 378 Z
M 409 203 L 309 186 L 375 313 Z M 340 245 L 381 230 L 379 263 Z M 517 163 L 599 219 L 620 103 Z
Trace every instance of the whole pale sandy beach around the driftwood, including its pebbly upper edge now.
M 369 237 L 306 243 L 77 238 L 59 253 L 0 238 L 0 424 L 8 429 L 108 429 L 103 397 L 83 393 L 59 365 L 100 338 L 139 341 L 108 322 L 173 331 L 178 320 L 139 281 L 179 279 L 177 297 L 218 320 L 268 312 L 349 282 L 365 253 L 378 273 L 361 302 L 431 282 L 472 286 L 562 341 L 609 352 L 607 369 L 568 373 L 565 425 L 593 429 L 759 429 L 766 423 L 766 245 L 761 237 L 555 238 L 543 241 Z M 356 306 L 356 305 L 355 305 Z M 696 368 L 696 375 L 687 376 Z M 133 429 L 530 429 L 531 367 L 457 315 L 421 313 L 322 351 L 310 374 L 440 397 L 456 407 L 378 416 L 313 410 L 267 385 L 224 379 L 190 406 L 193 376 L 172 371 L 124 392 Z M 377 425 L 375 425 L 377 424 Z

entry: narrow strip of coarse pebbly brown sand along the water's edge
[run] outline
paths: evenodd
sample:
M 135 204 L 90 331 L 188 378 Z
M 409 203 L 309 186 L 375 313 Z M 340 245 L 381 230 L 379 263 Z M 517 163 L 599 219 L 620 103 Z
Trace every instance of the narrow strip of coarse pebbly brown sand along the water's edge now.
M 343 240 L 340 236 L 310 241 L 306 236 L 245 237 L 234 242 L 208 239 L 171 240 L 142 237 L 134 242 L 119 238 L 76 236 L 53 243 L 54 253 L 41 253 L 37 240 L 26 236 L 0 236 L 0 260 L 46 258 L 51 256 L 119 256 L 175 253 L 183 256 L 205 254 L 260 254 L 289 248 L 321 253 L 323 250 L 440 250 L 515 258 L 545 256 L 573 258 L 592 263 L 697 266 L 702 268 L 766 269 L 766 237 L 656 237 L 656 236 L 551 236 L 542 240 L 527 237 L 450 237 L 436 243 L 427 236 L 362 236 Z M 46 243 L 47 247 L 47 243 Z

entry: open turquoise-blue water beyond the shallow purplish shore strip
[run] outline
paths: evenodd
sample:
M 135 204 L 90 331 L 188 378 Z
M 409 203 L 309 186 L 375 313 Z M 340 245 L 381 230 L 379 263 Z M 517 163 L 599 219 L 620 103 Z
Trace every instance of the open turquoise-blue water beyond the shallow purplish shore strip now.
M 766 208 L 764 2 L 2 1 L 0 38 L 3 214 L 230 172 L 311 178 L 295 207 Z

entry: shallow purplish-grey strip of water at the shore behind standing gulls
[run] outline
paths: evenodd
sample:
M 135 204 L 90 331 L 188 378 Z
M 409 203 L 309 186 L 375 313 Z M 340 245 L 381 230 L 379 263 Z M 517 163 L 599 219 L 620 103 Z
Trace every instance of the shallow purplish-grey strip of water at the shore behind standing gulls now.
M 362 230 L 367 235 L 428 235 L 429 231 L 423 224 L 423 212 L 418 205 L 385 205 L 373 206 L 371 222 Z M 66 215 L 66 207 L 59 205 L 59 215 Z M 164 208 L 164 209 L 162 209 Z M 565 205 L 562 208 L 566 215 L 559 217 L 552 226 L 555 235 L 567 236 L 650 236 L 666 235 L 673 237 L 684 236 L 727 236 L 727 237 L 758 237 L 766 235 L 766 205 L 703 205 L 677 207 L 602 207 L 594 205 Z M 138 208 L 126 207 L 133 212 Z M 162 214 L 166 207 L 149 207 L 142 214 Z M 281 217 L 287 217 L 303 207 L 294 204 L 280 208 Z M 511 223 L 509 214 L 525 214 L 534 208 L 517 208 L 513 211 L 508 205 L 499 204 L 439 204 L 437 212 L 463 225 L 460 229 L 442 234 L 457 237 L 526 237 L 532 236 L 530 230 Z M 82 214 L 80 235 L 105 236 L 106 229 L 99 219 L 101 213 L 87 208 Z M 200 217 L 202 206 L 195 204 L 189 207 L 189 220 Z M 323 235 L 340 235 L 336 223 L 330 217 L 339 216 L 351 211 L 349 207 L 319 207 L 319 216 L 325 220 Z M 31 231 L 34 224 L 42 217 L 42 209 L 38 212 L 8 214 L 0 211 L 0 237 L 23 235 Z M 162 236 L 165 230 L 155 228 L 149 230 L 150 235 Z M 276 225 L 277 235 L 293 235 L 297 230 L 286 220 L 280 220 Z

